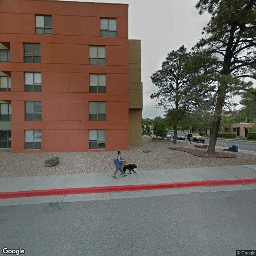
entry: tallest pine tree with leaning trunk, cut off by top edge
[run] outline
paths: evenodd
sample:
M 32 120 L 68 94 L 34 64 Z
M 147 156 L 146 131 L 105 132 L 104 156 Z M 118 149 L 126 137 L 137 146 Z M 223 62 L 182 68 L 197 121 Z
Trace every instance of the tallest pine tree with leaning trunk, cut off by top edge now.
M 256 0 L 199 0 L 199 14 L 210 21 L 194 47 L 217 58 L 216 104 L 208 153 L 214 153 L 225 99 L 228 94 L 248 90 L 256 79 Z

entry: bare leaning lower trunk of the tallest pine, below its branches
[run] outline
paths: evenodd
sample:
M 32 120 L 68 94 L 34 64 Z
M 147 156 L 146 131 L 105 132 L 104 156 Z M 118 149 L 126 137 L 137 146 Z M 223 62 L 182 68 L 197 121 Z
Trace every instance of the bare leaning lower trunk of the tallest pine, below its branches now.
M 216 108 L 214 112 L 214 120 L 212 123 L 212 130 L 210 134 L 210 142 L 209 142 L 207 153 L 215 152 L 215 146 L 216 146 L 218 131 L 220 127 L 220 120 L 221 120 L 223 104 L 225 101 L 225 96 L 226 96 L 226 85 L 220 84 L 218 88 L 218 96 L 217 96 Z

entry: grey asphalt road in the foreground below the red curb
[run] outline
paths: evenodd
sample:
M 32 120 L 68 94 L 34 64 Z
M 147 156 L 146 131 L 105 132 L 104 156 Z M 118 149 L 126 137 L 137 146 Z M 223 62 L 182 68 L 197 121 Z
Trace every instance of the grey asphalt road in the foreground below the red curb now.
M 256 250 L 255 212 L 255 189 L 1 206 L 0 255 L 235 256 Z

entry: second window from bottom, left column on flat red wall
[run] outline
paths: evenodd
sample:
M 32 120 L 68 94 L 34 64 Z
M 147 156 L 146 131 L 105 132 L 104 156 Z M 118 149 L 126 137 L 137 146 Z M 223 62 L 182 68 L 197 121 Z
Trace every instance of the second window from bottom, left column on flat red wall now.
M 25 101 L 25 121 L 42 120 L 42 102 Z

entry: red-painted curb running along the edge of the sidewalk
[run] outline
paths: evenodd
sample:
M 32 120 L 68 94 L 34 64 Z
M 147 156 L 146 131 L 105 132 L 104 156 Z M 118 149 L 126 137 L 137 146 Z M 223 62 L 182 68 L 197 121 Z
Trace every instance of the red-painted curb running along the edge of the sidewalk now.
M 0 193 L 0 199 L 31 197 L 31 196 L 57 196 L 57 195 L 66 195 L 66 194 L 108 193 L 108 192 L 117 192 L 117 191 L 152 190 L 152 189 L 164 189 L 164 188 L 238 185 L 238 184 L 251 184 L 251 183 L 256 183 L 256 178 L 243 178 L 243 179 L 238 178 L 233 180 L 198 180 L 198 181 L 176 182 L 176 183 L 108 186 L 108 187 L 92 187 L 92 188 L 59 188 L 59 189 L 48 189 L 48 190 L 2 192 Z

